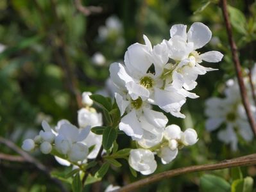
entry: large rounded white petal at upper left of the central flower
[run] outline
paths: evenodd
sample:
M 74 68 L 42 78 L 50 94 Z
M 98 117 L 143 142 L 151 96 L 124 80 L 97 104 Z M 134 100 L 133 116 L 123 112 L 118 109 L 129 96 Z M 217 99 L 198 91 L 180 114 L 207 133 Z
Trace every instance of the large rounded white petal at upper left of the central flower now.
M 148 47 L 138 43 L 130 45 L 124 54 L 124 63 L 133 77 L 143 76 L 152 64 L 149 61 Z

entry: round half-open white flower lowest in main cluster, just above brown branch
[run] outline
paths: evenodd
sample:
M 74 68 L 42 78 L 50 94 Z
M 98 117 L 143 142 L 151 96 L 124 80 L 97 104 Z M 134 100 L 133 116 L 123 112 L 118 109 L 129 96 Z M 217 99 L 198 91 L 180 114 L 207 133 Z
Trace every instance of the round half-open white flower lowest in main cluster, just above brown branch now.
M 130 166 L 143 175 L 149 175 L 157 169 L 153 152 L 147 149 L 132 149 L 128 159 Z

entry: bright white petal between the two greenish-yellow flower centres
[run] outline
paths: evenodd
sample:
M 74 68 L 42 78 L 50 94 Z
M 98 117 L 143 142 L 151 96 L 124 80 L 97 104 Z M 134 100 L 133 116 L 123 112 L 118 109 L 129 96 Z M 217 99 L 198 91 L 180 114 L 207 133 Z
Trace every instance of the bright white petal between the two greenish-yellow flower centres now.
M 126 83 L 126 88 L 133 100 L 138 99 L 138 97 L 141 97 L 142 100 L 145 100 L 149 97 L 149 90 L 133 81 Z

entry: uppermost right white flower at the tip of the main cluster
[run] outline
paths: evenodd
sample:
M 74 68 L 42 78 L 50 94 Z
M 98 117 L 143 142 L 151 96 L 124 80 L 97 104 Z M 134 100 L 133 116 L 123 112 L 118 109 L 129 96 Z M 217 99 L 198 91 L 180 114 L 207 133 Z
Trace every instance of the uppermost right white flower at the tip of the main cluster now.
M 165 41 L 169 51 L 169 58 L 178 63 L 173 70 L 173 86 L 192 90 L 196 86 L 198 75 L 203 75 L 207 71 L 216 70 L 206 68 L 199 63 L 202 61 L 216 63 L 221 61 L 223 54 L 218 51 L 209 51 L 203 54 L 195 51 L 200 49 L 210 41 L 212 32 L 201 22 L 194 22 L 188 33 L 187 26 L 176 24 L 171 27 L 169 41 Z

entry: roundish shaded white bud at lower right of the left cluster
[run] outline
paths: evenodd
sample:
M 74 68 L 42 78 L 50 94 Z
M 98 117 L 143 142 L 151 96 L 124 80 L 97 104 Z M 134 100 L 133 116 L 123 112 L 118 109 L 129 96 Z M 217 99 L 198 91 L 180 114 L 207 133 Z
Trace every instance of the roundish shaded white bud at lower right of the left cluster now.
M 73 162 L 83 161 L 86 159 L 88 152 L 88 147 L 83 143 L 74 143 L 71 147 L 70 153 L 68 154 L 69 160 Z

